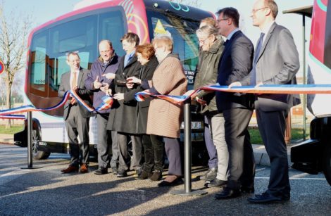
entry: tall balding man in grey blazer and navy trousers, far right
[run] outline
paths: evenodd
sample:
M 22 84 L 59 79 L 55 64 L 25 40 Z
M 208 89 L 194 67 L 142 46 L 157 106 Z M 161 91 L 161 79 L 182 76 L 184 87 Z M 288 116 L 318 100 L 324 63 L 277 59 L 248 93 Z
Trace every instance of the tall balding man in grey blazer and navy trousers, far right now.
M 277 25 L 277 4 L 273 0 L 258 0 L 251 11 L 253 25 L 261 30 L 256 45 L 251 76 L 231 86 L 261 84 L 296 84 L 299 54 L 292 34 Z M 300 103 L 299 95 L 259 94 L 255 108 L 258 129 L 270 158 L 268 190 L 249 198 L 250 203 L 278 203 L 289 201 L 289 170 L 285 144 L 286 117 L 289 108 Z

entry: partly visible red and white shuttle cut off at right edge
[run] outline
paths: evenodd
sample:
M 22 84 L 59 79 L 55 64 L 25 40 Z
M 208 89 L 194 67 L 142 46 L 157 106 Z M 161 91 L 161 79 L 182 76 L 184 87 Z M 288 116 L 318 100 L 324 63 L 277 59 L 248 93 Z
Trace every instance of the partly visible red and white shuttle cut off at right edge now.
M 331 84 L 331 1 L 315 0 L 313 8 L 302 8 L 297 13 L 312 17 L 308 84 Z M 330 94 L 308 94 L 307 107 L 315 115 L 311 139 L 291 148 L 292 167 L 310 174 L 324 172 L 331 185 Z

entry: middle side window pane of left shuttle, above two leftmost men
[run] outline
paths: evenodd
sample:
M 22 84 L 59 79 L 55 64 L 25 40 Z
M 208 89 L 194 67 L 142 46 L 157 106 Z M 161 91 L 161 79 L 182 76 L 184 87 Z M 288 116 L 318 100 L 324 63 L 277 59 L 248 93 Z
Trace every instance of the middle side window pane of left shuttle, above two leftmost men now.
M 49 44 L 49 97 L 57 97 L 61 75 L 69 71 L 66 54 L 77 51 L 80 55 L 80 66 L 89 68 L 97 56 L 96 25 L 97 15 L 72 20 L 50 29 Z

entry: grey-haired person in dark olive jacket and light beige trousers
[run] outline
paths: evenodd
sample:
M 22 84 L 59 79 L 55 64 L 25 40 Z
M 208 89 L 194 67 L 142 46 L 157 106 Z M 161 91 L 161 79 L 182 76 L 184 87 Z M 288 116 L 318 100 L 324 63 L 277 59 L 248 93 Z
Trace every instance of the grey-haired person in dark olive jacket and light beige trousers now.
M 223 39 L 218 35 L 218 30 L 214 25 L 204 25 L 196 30 L 196 36 L 201 46 L 200 62 L 194 82 L 194 89 L 204 87 L 208 84 L 215 84 L 218 76 L 218 62 L 223 52 Z M 225 142 L 224 117 L 216 107 L 216 96 L 213 91 L 199 91 L 192 99 L 201 103 L 200 113 L 205 115 L 211 129 L 213 145 L 206 144 L 209 157 L 215 157 L 217 151 L 217 169 L 210 167 L 206 172 L 205 180 L 207 186 L 225 186 L 227 181 L 227 166 L 229 153 Z

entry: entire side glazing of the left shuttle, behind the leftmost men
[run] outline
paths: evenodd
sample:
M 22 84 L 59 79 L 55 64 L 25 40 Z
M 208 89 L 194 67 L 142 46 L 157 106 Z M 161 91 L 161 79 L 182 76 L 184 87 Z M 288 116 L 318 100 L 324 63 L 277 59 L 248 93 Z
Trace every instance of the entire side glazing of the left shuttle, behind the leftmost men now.
M 99 56 L 98 42 L 110 39 L 115 52 L 122 56 L 124 51 L 120 38 L 127 32 L 125 13 L 122 7 L 93 11 L 75 15 L 35 32 L 32 36 L 30 69 L 30 93 L 43 97 L 57 97 L 61 75 L 69 70 L 66 54 L 77 51 L 80 66 L 91 68 Z

